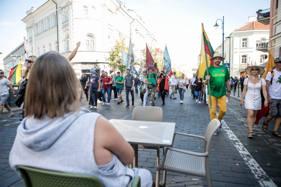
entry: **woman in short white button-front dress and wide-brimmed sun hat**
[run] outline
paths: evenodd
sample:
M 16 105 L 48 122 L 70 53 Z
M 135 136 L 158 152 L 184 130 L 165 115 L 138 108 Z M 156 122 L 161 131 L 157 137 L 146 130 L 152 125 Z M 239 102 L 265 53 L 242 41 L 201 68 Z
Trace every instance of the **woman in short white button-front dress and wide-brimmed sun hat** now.
M 263 96 L 267 98 L 265 79 L 259 78 L 259 75 L 264 73 L 264 71 L 265 69 L 259 66 L 249 66 L 246 68 L 246 73 L 250 76 L 244 80 L 244 89 L 241 96 L 240 106 L 244 104 L 243 99 L 245 97 L 245 108 L 248 111 L 248 138 L 253 138 L 253 135 L 255 135 L 253 134 L 252 128 L 256 121 L 256 113 L 262 108 L 262 98 L 260 94 L 261 88 Z M 268 105 L 268 101 L 265 100 L 263 104 L 266 107 Z

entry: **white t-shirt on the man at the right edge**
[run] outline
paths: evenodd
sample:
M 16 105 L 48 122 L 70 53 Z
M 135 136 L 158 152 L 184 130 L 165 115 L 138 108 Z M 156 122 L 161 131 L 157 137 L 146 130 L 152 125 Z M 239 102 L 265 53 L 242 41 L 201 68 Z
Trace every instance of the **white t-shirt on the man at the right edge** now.
M 273 72 L 272 85 L 269 84 L 269 95 L 271 99 L 281 99 L 281 71 L 274 69 Z M 271 81 L 271 72 L 266 74 L 265 80 Z

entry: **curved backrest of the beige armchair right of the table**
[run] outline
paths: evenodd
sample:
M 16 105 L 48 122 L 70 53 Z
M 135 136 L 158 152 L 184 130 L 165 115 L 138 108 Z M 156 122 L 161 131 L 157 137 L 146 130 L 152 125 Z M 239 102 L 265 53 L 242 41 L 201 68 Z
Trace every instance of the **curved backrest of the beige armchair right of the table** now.
M 213 119 L 207 126 L 205 132 L 205 139 L 204 139 L 204 149 L 205 152 L 207 151 L 210 153 L 210 144 L 213 137 L 214 132 L 219 128 L 221 122 L 218 119 Z

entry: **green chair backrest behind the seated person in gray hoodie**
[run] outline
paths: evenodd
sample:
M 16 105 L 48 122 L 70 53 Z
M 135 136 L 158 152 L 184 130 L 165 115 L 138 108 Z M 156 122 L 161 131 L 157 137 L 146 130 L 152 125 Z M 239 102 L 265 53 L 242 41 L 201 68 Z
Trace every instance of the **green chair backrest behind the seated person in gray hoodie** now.
M 27 166 L 18 166 L 26 187 L 103 187 L 94 176 L 48 171 Z

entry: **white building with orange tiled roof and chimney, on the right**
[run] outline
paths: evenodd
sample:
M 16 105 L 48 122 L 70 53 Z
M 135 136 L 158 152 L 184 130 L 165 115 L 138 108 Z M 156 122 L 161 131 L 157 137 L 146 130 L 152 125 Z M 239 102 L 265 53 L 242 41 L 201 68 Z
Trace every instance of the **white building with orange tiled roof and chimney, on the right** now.
M 255 21 L 255 16 L 249 17 L 249 22 L 230 33 L 229 38 L 224 41 L 225 63 L 230 65 L 230 76 L 240 77 L 246 75 L 245 69 L 248 64 L 259 65 L 265 62 L 263 56 L 268 54 L 262 50 L 256 50 L 257 41 L 260 47 L 266 46 L 269 39 L 269 25 Z M 222 53 L 222 45 L 215 51 Z

